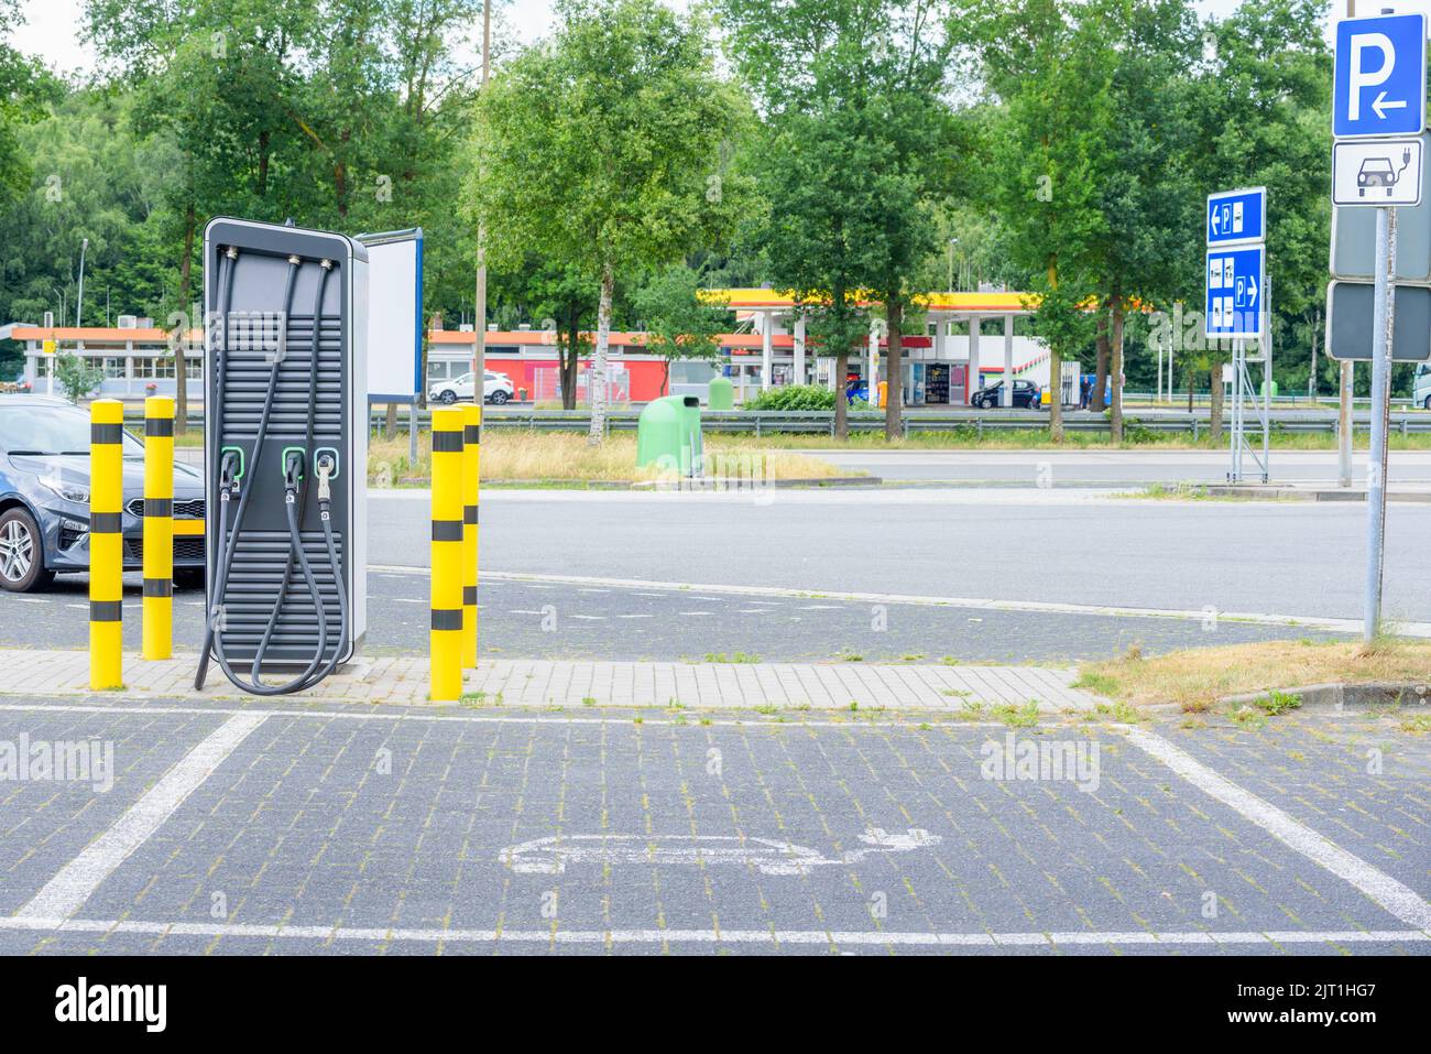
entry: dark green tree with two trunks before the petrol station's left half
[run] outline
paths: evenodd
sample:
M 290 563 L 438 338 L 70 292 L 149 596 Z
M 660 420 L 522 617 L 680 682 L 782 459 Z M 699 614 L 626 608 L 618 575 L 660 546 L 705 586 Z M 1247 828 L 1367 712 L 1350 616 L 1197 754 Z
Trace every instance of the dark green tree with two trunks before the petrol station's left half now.
M 900 431 L 904 312 L 927 285 L 932 203 L 947 185 L 946 3 L 720 0 L 743 77 L 766 113 L 761 186 L 768 222 L 756 245 L 770 274 L 811 305 L 816 351 L 836 357 L 843 391 L 860 344 L 854 302 L 884 305 L 886 435 Z M 874 394 L 874 378 L 870 378 Z M 836 400 L 844 435 L 846 400 Z

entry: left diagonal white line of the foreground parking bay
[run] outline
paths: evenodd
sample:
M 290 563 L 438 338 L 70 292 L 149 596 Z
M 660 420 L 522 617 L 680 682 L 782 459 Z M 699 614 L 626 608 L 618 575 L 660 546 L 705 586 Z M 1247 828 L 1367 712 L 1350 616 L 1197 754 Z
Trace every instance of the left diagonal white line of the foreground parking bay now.
M 60 872 L 46 882 L 44 888 L 16 912 L 16 917 L 53 919 L 79 911 L 114 868 L 143 845 L 173 815 L 183 799 L 266 719 L 265 713 L 243 713 L 223 722 L 149 788 L 123 816 L 114 821 L 113 826 L 60 868 Z

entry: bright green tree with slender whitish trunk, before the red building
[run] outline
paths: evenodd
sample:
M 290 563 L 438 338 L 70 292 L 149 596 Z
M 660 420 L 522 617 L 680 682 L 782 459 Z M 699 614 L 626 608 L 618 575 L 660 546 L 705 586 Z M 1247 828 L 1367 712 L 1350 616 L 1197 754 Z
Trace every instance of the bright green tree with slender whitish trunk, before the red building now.
M 617 278 L 718 242 L 743 180 L 720 172 L 747 107 L 716 73 L 708 26 L 655 0 L 561 0 L 552 40 L 522 53 L 478 100 L 471 202 L 487 259 L 537 252 L 592 281 L 592 444 L 605 432 Z

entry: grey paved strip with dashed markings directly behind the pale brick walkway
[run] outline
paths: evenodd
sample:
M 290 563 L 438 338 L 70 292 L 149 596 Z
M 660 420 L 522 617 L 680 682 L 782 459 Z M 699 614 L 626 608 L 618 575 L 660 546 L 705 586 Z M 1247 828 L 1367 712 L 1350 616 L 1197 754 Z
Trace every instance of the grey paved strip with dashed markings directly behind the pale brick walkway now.
M 124 642 L 140 640 L 140 580 L 124 590 Z M 64 576 L 49 591 L 0 593 L 0 647 L 86 647 L 87 580 Z M 371 570 L 372 654 L 428 649 L 425 569 Z M 1328 639 L 1295 624 L 1218 617 L 1141 617 L 1090 611 L 1002 610 L 983 606 L 847 600 L 820 593 L 751 596 L 716 589 L 582 584 L 514 577 L 484 580 L 482 654 L 524 659 L 700 660 L 737 653 L 767 662 L 849 659 L 1062 663 L 1105 659 L 1132 646 L 1145 653 L 1271 639 Z M 175 594 L 175 644 L 196 652 L 203 593 Z

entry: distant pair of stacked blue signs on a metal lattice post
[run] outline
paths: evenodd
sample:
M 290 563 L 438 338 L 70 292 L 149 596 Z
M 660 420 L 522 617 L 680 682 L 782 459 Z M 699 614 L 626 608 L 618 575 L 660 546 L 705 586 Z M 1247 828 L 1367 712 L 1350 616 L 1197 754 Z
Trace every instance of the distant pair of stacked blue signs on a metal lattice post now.
M 1203 215 L 1208 243 L 1203 269 L 1202 332 L 1211 341 L 1232 342 L 1232 465 L 1229 483 L 1244 477 L 1244 453 L 1251 453 L 1262 468 L 1262 483 L 1271 478 L 1268 455 L 1271 444 L 1272 354 L 1266 319 L 1271 282 L 1266 278 L 1266 188 L 1221 190 L 1208 195 Z M 1248 374 L 1249 339 L 1256 341 L 1262 362 L 1262 398 Z M 1256 361 L 1252 359 L 1252 361 Z M 1246 441 L 1246 397 L 1262 420 L 1261 457 Z

